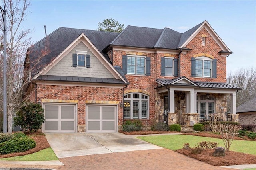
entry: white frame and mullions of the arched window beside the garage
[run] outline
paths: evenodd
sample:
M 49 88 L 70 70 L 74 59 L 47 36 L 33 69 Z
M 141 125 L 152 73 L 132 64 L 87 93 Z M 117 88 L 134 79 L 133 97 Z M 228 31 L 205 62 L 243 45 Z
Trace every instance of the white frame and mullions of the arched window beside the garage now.
M 130 101 L 130 117 L 124 117 L 124 119 L 149 119 L 149 96 L 147 94 L 144 93 L 139 93 L 139 92 L 133 92 L 133 93 L 127 93 L 124 94 L 124 96 L 130 94 L 131 98 L 124 98 L 124 101 Z M 139 94 L 139 98 L 133 98 L 133 94 Z M 142 99 L 141 95 L 147 96 L 147 99 Z M 138 101 L 139 102 L 139 117 L 138 118 L 134 118 L 133 117 L 133 101 Z M 146 118 L 142 118 L 142 101 L 146 101 L 147 102 L 147 117 Z

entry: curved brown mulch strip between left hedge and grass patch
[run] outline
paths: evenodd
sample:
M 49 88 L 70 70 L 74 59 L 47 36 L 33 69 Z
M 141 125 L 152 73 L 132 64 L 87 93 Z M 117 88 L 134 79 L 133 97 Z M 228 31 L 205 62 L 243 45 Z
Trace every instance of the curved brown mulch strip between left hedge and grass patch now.
M 35 153 L 35 152 L 38 152 L 40 150 L 43 150 L 43 149 L 46 149 L 46 148 L 50 147 L 50 144 L 48 143 L 48 141 L 47 141 L 47 139 L 46 139 L 46 137 L 43 133 L 36 132 L 36 133 L 33 133 L 33 134 L 29 134 L 28 136 L 30 138 L 34 139 L 34 141 L 36 142 L 36 147 L 34 147 L 30 150 L 27 150 L 25 152 L 0 155 L 0 158 L 23 156 L 23 155 L 32 154 L 32 153 Z

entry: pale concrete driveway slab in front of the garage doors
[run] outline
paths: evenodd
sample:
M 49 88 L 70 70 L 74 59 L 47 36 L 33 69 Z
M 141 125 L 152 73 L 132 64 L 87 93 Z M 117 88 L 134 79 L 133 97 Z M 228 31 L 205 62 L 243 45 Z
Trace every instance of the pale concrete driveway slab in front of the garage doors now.
M 58 158 L 160 149 L 157 145 L 122 133 L 45 133 Z

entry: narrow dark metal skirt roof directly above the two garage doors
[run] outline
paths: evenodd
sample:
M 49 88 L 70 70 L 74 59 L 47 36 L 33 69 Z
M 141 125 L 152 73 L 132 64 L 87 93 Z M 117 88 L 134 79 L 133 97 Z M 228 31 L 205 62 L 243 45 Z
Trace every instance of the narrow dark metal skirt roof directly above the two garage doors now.
M 106 83 L 106 84 L 126 84 L 122 80 L 115 78 L 93 78 L 75 76 L 38 76 L 36 80 L 66 81 L 66 82 L 87 82 L 87 83 Z

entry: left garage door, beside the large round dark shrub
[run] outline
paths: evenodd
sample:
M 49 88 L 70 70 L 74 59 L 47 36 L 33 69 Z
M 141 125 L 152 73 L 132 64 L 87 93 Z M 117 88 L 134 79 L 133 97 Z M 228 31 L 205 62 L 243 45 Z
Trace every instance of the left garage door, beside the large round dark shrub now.
M 44 104 L 44 132 L 76 132 L 76 105 Z

